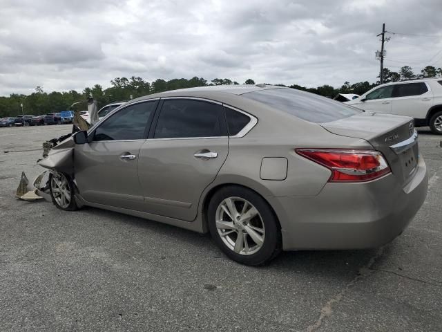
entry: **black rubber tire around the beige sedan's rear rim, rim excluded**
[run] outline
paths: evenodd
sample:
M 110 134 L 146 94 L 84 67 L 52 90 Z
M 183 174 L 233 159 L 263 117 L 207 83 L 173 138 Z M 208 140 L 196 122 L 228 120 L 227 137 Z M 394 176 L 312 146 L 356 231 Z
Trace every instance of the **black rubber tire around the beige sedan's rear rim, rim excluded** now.
M 265 226 L 265 237 L 264 242 L 260 249 L 251 255 L 242 255 L 240 253 L 234 252 L 231 248 L 227 246 L 226 243 L 221 239 L 218 229 L 216 227 L 215 218 L 218 206 L 224 199 L 229 197 L 236 197 L 244 199 L 254 205 L 256 210 L 258 210 L 262 223 Z M 238 261 L 240 264 L 259 266 L 269 263 L 273 258 L 279 255 L 282 250 L 282 239 L 280 232 L 280 225 L 278 219 L 270 208 L 269 203 L 262 198 L 262 196 L 256 194 L 252 190 L 244 187 L 229 185 L 227 187 L 222 187 L 218 192 L 212 196 L 209 202 L 209 207 L 207 209 L 207 218 L 209 231 L 213 238 L 213 241 L 220 247 L 220 249 L 228 257 L 234 261 Z

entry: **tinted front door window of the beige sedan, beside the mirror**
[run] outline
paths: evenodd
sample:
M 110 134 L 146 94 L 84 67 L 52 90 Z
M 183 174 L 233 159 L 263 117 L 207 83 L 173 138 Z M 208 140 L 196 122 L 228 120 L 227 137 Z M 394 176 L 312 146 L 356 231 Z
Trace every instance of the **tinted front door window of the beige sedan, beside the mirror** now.
M 130 105 L 99 124 L 93 141 L 142 140 L 146 126 L 153 116 L 157 101 Z

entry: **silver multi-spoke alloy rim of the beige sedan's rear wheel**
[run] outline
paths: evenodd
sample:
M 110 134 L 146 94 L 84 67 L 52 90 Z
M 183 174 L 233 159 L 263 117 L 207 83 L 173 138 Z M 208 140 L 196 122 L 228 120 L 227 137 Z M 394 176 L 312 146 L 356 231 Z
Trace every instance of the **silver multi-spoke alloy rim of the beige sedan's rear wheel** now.
M 233 252 L 253 255 L 265 241 L 265 225 L 258 210 L 245 199 L 228 197 L 215 213 L 220 238 Z

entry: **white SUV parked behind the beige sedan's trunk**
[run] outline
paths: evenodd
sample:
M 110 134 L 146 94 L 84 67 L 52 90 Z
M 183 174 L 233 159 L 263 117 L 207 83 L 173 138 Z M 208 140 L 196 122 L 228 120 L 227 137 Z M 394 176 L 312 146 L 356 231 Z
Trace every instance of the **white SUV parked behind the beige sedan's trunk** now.
M 442 135 L 442 78 L 382 84 L 345 104 L 411 116 L 416 127 L 430 126 L 433 133 Z

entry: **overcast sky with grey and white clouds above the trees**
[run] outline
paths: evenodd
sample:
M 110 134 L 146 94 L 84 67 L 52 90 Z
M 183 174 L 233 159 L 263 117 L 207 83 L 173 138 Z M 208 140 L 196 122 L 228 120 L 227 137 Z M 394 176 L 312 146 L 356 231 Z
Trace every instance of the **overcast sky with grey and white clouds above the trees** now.
M 0 8 L 0 95 L 106 88 L 132 75 L 374 82 L 383 22 L 396 33 L 388 68 L 442 66 L 441 0 L 0 0 Z

